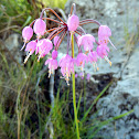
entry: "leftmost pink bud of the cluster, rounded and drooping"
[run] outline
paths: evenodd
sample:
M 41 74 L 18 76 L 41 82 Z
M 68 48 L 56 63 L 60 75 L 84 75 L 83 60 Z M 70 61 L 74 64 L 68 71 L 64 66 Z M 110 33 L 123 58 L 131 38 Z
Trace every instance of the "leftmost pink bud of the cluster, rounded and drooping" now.
M 28 42 L 33 35 L 33 30 L 31 26 L 25 26 L 23 30 L 22 30 L 22 36 L 24 39 L 25 42 Z

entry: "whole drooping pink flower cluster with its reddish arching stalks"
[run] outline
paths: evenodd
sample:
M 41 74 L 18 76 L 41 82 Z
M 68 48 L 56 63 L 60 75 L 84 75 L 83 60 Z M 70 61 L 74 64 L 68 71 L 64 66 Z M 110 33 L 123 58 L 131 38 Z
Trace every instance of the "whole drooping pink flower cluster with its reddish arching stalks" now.
M 111 62 L 108 58 L 109 47 L 107 46 L 108 42 L 110 42 L 110 29 L 107 25 L 101 25 L 96 20 L 87 19 L 79 21 L 78 17 L 76 15 L 75 9 L 75 4 L 73 4 L 71 14 L 68 15 L 67 21 L 64 22 L 54 10 L 45 8 L 39 19 L 34 20 L 29 26 L 25 26 L 22 30 L 24 45 L 21 50 L 25 47 L 25 51 L 28 52 L 24 63 L 26 63 L 28 58 L 34 52 L 38 55 L 38 61 L 40 61 L 40 58 L 44 57 L 52 51 L 52 58 L 49 58 L 45 62 L 45 65 L 49 64 L 49 76 L 53 74 L 54 70 L 60 66 L 61 73 L 66 79 L 67 84 L 71 74 L 75 72 L 75 65 L 81 67 L 82 73 L 84 71 L 85 63 L 88 62 L 93 63 L 95 71 L 98 71 L 97 61 L 99 58 L 105 58 L 111 65 Z M 45 10 L 53 12 L 58 20 L 43 18 Z M 58 26 L 46 30 L 46 23 L 44 22 L 44 20 L 56 22 Z M 98 25 L 98 41 L 92 34 L 87 34 L 82 28 L 87 23 L 95 23 Z M 30 41 L 33 36 L 33 33 L 35 33 L 36 39 Z M 68 49 L 71 47 L 71 35 L 74 36 L 74 40 L 77 43 L 78 55 L 76 56 L 76 58 L 68 54 Z M 57 51 L 65 36 L 67 38 L 67 53 L 60 60 L 60 62 L 57 62 Z

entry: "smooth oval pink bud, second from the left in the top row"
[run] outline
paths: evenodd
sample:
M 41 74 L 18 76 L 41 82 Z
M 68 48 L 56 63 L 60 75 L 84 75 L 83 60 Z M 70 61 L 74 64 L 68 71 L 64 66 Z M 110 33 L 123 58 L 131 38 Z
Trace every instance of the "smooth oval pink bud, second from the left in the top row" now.
M 46 30 L 46 24 L 42 19 L 36 19 L 34 22 L 34 32 L 38 36 L 44 35 L 44 32 Z

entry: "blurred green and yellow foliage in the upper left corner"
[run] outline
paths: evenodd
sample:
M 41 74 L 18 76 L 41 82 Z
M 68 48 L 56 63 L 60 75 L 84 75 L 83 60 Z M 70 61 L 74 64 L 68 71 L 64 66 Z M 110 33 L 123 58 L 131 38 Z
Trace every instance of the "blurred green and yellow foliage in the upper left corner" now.
M 39 18 L 43 8 L 64 9 L 67 0 L 1 0 L 0 33 L 9 30 L 21 33 L 23 26 Z

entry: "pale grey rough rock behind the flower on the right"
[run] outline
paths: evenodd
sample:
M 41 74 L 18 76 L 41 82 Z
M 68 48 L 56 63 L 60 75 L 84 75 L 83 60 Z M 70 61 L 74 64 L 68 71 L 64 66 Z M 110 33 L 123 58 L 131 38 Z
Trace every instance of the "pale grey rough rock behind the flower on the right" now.
M 96 105 L 96 110 L 99 110 L 98 117 L 106 120 L 135 109 L 129 116 L 105 126 L 99 135 L 104 139 L 139 139 L 139 42 L 137 41 L 139 38 L 137 32 L 139 30 L 139 1 L 68 0 L 65 7 L 66 14 L 70 13 L 73 2 L 76 3 L 79 20 L 95 19 L 111 29 L 111 41 L 117 47 L 115 50 L 109 44 L 108 57 L 113 62 L 111 67 L 104 60 L 98 62 L 98 72 L 94 72 L 90 64 L 85 66 L 84 71 L 92 75 L 92 82 L 87 84 L 87 105 L 94 100 L 95 92 L 100 93 L 114 79 L 114 85 Z M 97 36 L 97 25 L 88 24 L 84 28 L 87 33 Z

